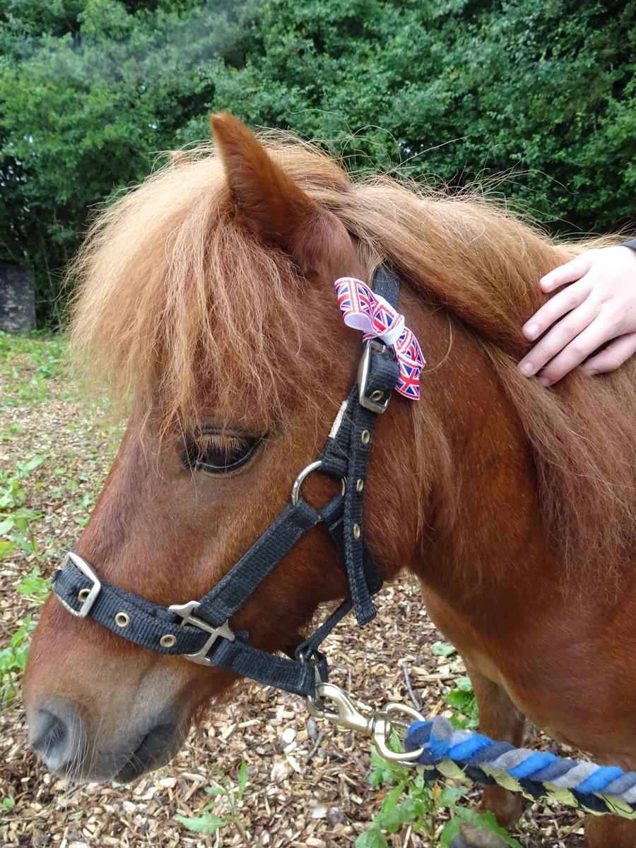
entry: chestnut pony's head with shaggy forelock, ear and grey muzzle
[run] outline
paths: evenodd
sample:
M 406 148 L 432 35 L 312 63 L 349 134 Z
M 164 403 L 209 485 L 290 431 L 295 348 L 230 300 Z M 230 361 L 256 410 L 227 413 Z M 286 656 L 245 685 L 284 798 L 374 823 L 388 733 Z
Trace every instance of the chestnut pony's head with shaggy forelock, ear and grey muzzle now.
M 309 193 L 348 192 L 337 165 L 302 147 L 268 152 L 227 114 L 212 126 L 215 153 L 180 158 L 114 204 L 76 267 L 75 349 L 132 399 L 76 554 L 165 606 L 209 592 L 315 459 L 360 357 L 333 282 L 369 270 Z M 312 475 L 304 497 L 325 503 L 335 485 Z M 378 492 L 370 509 L 391 500 Z M 397 567 L 391 547 L 384 559 Z M 232 630 L 284 650 L 302 641 L 318 605 L 347 591 L 319 527 L 232 616 Z M 67 778 L 127 780 L 173 756 L 192 719 L 235 681 L 120 639 L 52 597 L 25 675 L 31 742 Z

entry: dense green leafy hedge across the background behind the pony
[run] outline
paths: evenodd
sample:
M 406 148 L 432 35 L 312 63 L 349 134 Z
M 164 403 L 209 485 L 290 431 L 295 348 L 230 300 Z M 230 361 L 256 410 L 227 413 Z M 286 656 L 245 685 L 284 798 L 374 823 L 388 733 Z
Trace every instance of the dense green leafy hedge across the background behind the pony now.
M 633 226 L 634 56 L 636 0 L 7 0 L 0 259 L 58 314 L 91 210 L 218 109 L 354 170 L 477 181 L 556 230 Z

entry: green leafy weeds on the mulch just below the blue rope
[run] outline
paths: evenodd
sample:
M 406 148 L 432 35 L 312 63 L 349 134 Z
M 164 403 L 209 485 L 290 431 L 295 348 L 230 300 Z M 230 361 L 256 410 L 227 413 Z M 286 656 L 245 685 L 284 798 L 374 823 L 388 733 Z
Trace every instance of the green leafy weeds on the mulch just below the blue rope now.
M 438 784 L 429 784 L 424 780 L 421 769 L 388 762 L 376 750 L 371 753 L 371 767 L 371 785 L 380 789 L 383 784 L 393 784 L 393 789 L 388 792 L 370 827 L 355 840 L 355 848 L 388 848 L 384 834 L 399 833 L 408 825 L 416 833 L 426 834 L 429 839 L 433 839 L 441 827 L 438 845 L 449 848 L 462 820 L 499 834 L 512 848 L 522 848 L 517 840 L 499 827 L 492 813 L 484 815 L 461 806 L 460 801 L 469 791 L 468 786 L 442 788 Z

